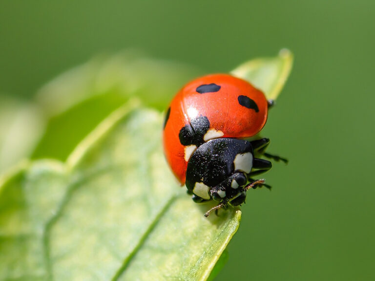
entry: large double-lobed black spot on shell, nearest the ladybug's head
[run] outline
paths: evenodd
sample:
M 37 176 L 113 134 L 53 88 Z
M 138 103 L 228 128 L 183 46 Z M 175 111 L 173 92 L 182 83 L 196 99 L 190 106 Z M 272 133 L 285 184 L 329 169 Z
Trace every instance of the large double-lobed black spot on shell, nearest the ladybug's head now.
M 200 146 L 205 141 L 203 139 L 206 132 L 209 130 L 209 121 L 206 116 L 200 116 L 190 121 L 190 124 L 181 128 L 178 137 L 180 143 L 184 146 L 196 145 Z

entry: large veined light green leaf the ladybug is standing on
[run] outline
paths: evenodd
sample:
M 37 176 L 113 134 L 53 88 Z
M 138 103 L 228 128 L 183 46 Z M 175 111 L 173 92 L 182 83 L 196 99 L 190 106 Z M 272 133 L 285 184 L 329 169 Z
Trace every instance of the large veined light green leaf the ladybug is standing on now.
M 207 280 L 241 212 L 203 214 L 170 173 L 162 116 L 126 106 L 66 164 L 0 178 L 1 280 Z

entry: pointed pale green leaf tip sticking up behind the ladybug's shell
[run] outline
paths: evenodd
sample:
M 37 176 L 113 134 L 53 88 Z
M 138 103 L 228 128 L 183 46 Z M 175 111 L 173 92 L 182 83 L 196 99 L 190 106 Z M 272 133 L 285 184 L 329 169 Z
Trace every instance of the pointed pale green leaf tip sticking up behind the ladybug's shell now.
M 275 100 L 286 83 L 293 64 L 291 51 L 282 49 L 274 58 L 259 58 L 238 66 L 231 74 L 251 82 L 270 100 Z

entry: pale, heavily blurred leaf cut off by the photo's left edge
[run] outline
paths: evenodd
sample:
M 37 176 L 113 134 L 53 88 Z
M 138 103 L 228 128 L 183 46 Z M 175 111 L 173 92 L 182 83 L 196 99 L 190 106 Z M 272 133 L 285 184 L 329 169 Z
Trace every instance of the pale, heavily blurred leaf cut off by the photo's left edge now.
M 30 155 L 43 127 L 36 106 L 0 96 L 0 173 Z

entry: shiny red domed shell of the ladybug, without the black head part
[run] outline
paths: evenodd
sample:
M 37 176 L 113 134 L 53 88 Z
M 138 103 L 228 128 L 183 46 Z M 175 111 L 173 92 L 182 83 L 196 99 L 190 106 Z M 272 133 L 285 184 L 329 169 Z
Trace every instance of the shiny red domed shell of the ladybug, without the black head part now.
M 209 85 L 219 86 L 220 89 L 198 92 L 200 86 Z M 241 105 L 240 96 L 242 99 L 243 96 L 250 98 L 256 108 Z M 167 109 L 163 133 L 167 162 L 180 183 L 185 183 L 187 161 L 179 132 L 191 119 L 206 116 L 210 129 L 218 130 L 222 134 L 220 137 L 246 138 L 262 130 L 267 113 L 268 102 L 263 92 L 249 82 L 228 74 L 207 75 L 184 86 Z

